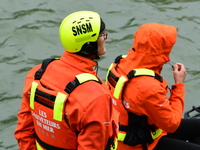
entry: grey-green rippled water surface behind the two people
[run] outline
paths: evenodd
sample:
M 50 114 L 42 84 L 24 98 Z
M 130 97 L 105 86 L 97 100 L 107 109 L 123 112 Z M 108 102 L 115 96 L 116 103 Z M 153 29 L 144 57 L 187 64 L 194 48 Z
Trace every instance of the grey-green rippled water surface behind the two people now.
M 98 74 L 105 80 L 109 64 L 132 45 L 133 33 L 148 22 L 178 29 L 171 63 L 187 68 L 185 110 L 199 103 L 199 0 L 0 0 L 0 150 L 17 150 L 13 131 L 26 73 L 45 58 L 59 57 L 59 24 L 78 10 L 100 13 L 107 25 L 107 53 L 99 60 Z M 172 70 L 162 76 L 173 84 Z

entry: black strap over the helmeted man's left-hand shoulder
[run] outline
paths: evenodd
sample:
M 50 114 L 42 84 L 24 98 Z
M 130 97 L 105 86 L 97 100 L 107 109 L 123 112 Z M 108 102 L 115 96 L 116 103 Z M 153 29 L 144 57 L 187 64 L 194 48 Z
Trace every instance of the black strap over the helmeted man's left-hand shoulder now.
M 55 58 L 48 58 L 48 59 L 43 60 L 41 68 L 35 73 L 35 80 L 41 79 L 41 77 L 42 77 L 43 73 L 45 72 L 49 63 L 51 63 L 54 60 L 56 60 L 56 59 Z

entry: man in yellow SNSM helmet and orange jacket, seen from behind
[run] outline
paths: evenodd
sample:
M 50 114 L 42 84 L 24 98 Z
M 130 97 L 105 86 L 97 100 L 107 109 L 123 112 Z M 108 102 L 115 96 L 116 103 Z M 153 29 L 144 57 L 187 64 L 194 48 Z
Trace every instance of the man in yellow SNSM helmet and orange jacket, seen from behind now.
M 63 55 L 44 60 L 26 76 L 14 132 L 19 148 L 114 150 L 118 116 L 95 69 L 95 59 L 106 53 L 105 24 L 96 12 L 78 11 L 59 31 Z

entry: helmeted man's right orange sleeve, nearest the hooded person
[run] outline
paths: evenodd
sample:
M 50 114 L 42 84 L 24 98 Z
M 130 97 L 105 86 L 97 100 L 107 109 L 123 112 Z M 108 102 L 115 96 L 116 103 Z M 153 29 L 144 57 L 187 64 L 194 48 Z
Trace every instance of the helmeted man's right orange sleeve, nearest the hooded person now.
M 104 150 L 113 135 L 112 100 L 102 95 L 92 102 L 79 121 L 78 150 Z

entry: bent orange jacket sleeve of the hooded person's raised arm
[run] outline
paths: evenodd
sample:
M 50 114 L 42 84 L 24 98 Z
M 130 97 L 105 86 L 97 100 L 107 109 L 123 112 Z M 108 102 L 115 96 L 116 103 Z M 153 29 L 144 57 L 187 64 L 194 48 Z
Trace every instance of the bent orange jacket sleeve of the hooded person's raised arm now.
M 176 131 L 184 109 L 184 84 L 173 85 L 169 99 L 162 86 L 155 85 L 147 93 L 147 100 L 144 103 L 145 110 L 143 111 L 149 120 L 168 133 Z

